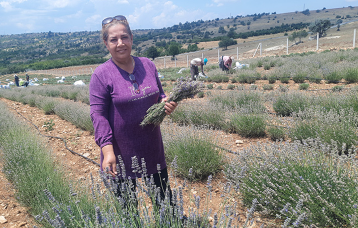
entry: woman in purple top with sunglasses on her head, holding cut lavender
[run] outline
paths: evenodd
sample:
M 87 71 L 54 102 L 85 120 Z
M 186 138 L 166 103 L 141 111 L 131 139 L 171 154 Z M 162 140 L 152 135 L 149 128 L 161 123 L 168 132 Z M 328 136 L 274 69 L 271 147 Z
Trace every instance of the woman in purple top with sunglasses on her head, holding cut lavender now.
M 140 174 L 132 172 L 131 159 L 135 156 L 141 162 L 144 158 L 147 174 L 153 175 L 164 198 L 168 172 L 160 127 L 140 126 L 151 105 L 167 101 L 158 72 L 148 58 L 131 56 L 133 35 L 124 16 L 103 20 L 102 39 L 112 58 L 96 68 L 89 84 L 90 116 L 95 142 L 101 148 L 101 170 L 107 168 L 112 177 L 119 176 L 116 165 L 120 156 L 126 177 L 135 183 Z M 166 114 L 177 105 L 166 102 Z

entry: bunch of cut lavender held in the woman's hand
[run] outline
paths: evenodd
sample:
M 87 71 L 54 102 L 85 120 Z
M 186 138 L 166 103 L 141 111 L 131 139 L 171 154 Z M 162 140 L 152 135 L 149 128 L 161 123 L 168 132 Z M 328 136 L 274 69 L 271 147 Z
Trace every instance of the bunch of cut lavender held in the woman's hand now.
M 179 102 L 186 98 L 192 98 L 195 94 L 201 92 L 203 88 L 204 84 L 200 81 L 193 81 L 189 77 L 180 77 L 174 84 L 173 91 L 169 95 L 169 99 L 167 102 Z M 149 124 L 153 124 L 155 126 L 160 125 L 163 122 L 164 117 L 166 116 L 164 105 L 165 102 L 153 104 L 147 110 L 148 114 L 144 117 L 144 120 L 140 125 L 142 127 Z

